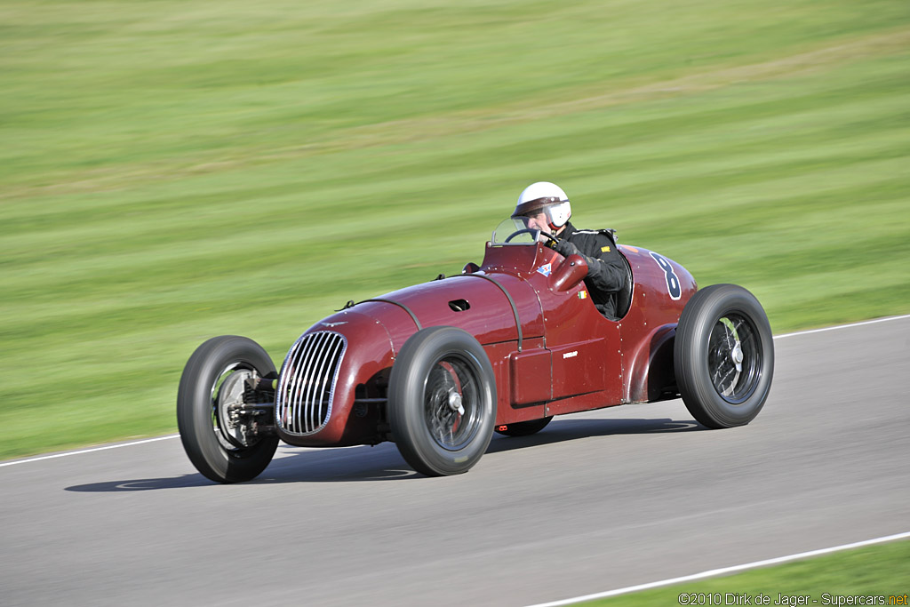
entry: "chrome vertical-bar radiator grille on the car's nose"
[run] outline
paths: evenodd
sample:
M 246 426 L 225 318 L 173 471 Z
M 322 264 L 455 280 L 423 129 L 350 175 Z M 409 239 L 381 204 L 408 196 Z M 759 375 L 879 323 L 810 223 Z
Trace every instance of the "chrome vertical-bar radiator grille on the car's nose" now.
M 347 340 L 333 331 L 297 340 L 281 366 L 275 419 L 288 434 L 312 434 L 329 422 L 332 398 Z

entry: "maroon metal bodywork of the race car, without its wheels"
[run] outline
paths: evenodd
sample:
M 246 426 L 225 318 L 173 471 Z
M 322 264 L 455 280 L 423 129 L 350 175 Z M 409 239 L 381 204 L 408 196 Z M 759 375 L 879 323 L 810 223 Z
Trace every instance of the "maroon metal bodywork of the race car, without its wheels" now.
M 318 354 L 309 357 L 313 372 L 330 376 L 328 410 L 315 412 L 315 427 L 294 424 L 308 411 L 295 416 L 292 399 L 279 400 L 278 436 L 301 447 L 383 440 L 381 405 L 391 368 L 405 342 L 427 327 L 459 327 L 480 342 L 496 377 L 497 426 L 676 396 L 669 352 L 695 281 L 662 258 L 681 286 L 674 299 L 652 251 L 621 250 L 634 280 L 632 305 L 619 321 L 605 319 L 587 297 L 584 261 L 541 243 L 488 244 L 476 271 L 402 288 L 320 320 L 288 353 L 279 392 L 293 393 L 292 369 L 299 369 L 297 381 L 305 380 L 308 369 L 300 367 L 308 342 L 339 336 L 339 356 L 329 352 L 329 364 Z

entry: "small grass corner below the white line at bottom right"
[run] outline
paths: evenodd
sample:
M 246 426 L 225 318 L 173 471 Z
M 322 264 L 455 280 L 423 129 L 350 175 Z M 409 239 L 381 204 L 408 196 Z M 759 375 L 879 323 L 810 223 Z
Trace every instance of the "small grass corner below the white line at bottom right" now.
M 907 570 L 907 562 L 910 562 L 910 541 L 894 541 L 879 546 L 835 552 L 806 561 L 794 561 L 735 575 L 579 604 L 588 607 L 681 604 L 906 605 L 907 592 L 910 592 L 910 571 Z M 728 596 L 728 593 L 739 595 L 740 598 Z M 681 595 L 685 595 L 682 602 Z M 875 600 L 870 602 L 868 599 L 855 598 L 860 596 L 875 597 Z M 749 597 L 751 602 L 743 602 L 745 597 Z M 854 599 L 848 602 L 850 599 L 847 597 Z M 877 597 L 882 597 L 884 602 L 879 602 Z M 718 598 L 720 602 L 717 601 Z M 737 603 L 737 600 L 741 602 Z

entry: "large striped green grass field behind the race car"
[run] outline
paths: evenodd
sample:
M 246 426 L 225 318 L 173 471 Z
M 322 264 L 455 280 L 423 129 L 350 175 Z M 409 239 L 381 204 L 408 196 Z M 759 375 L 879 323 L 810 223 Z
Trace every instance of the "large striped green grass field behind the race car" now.
M 174 431 L 521 189 L 776 332 L 910 312 L 910 4 L 0 2 L 0 459 Z

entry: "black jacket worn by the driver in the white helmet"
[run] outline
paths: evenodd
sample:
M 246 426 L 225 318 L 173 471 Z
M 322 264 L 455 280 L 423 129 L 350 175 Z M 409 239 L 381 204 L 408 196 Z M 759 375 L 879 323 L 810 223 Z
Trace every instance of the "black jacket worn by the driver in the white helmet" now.
M 618 320 L 616 315 L 617 294 L 626 288 L 629 270 L 625 260 L 616 250 L 613 230 L 577 229 L 566 223 L 558 242 L 551 243 L 565 257 L 577 253 L 588 264 L 588 276 L 584 284 L 591 293 L 594 306 L 608 319 Z

